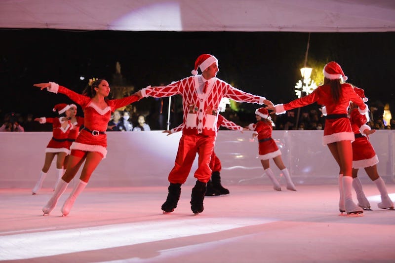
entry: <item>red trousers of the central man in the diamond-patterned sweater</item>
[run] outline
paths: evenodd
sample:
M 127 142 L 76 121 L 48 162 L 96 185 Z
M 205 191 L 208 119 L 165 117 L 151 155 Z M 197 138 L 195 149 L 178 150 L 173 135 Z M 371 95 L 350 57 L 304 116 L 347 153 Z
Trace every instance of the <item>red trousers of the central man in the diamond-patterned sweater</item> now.
M 168 177 L 169 182 L 184 184 L 187 181 L 196 154 L 198 154 L 198 167 L 194 176 L 198 181 L 207 183 L 211 178 L 209 165 L 214 143 L 215 136 L 183 134 L 178 145 L 174 167 Z

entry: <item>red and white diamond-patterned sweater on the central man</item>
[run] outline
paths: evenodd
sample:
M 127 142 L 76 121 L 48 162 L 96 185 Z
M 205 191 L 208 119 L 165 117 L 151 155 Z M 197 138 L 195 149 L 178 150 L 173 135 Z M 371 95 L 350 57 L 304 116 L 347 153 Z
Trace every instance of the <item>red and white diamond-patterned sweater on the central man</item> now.
M 183 134 L 210 135 L 217 134 L 217 118 L 222 98 L 227 97 L 237 102 L 263 104 L 264 97 L 255 96 L 238 90 L 225 81 L 213 77 L 208 79 L 205 93 L 199 89 L 199 82 L 204 82 L 202 75 L 189 76 L 173 84 L 160 87 L 148 86 L 141 90 L 143 97 L 169 97 L 181 95 L 183 99 Z

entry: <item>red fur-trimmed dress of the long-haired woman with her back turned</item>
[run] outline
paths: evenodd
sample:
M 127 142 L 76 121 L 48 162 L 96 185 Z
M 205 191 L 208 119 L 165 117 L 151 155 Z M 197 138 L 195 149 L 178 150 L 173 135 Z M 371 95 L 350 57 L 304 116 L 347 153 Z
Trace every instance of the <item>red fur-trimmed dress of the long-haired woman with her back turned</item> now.
M 326 107 L 328 115 L 342 114 L 346 117 L 339 117 L 325 120 L 323 144 L 339 142 L 339 141 L 354 141 L 354 132 L 351 128 L 350 120 L 347 118 L 347 108 L 350 101 L 359 107 L 359 112 L 364 114 L 368 108 L 363 103 L 362 99 L 355 93 L 353 86 L 348 83 L 341 84 L 341 94 L 339 102 L 335 103 L 332 99 L 330 85 L 322 85 L 316 88 L 311 94 L 300 99 L 293 100 L 284 105 L 276 105 L 276 114 L 285 113 L 285 111 L 295 108 L 303 107 L 312 103 L 318 103 Z

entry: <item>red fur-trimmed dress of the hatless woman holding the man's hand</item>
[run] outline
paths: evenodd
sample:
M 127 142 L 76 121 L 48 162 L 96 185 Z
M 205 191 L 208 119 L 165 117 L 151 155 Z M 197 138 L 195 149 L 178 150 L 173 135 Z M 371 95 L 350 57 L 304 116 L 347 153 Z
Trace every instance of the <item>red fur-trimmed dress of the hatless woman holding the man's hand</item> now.
M 48 91 L 65 94 L 82 107 L 84 113 L 84 127 L 91 131 L 106 131 L 111 113 L 120 107 L 137 101 L 139 98 L 136 95 L 131 95 L 122 99 L 106 100 L 108 106 L 105 109 L 100 109 L 92 102 L 92 98 L 78 94 L 66 87 L 59 86 L 54 82 L 50 82 L 50 84 L 51 86 L 47 88 Z M 71 150 L 97 151 L 103 155 L 103 158 L 105 158 L 107 154 L 106 148 L 107 134 L 93 135 L 93 132 L 88 132 L 85 129 L 79 133 L 76 141 L 70 147 Z

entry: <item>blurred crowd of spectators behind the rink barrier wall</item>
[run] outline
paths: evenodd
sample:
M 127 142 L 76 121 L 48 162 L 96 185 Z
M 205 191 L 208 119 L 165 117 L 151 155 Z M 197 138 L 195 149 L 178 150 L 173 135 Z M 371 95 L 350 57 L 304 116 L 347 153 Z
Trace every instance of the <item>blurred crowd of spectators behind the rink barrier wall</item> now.
M 109 123 L 109 129 L 120 131 L 135 131 L 135 130 L 165 130 L 167 127 L 167 113 L 163 111 L 163 104 L 160 103 L 160 109 L 152 108 L 152 111 L 139 112 L 136 106 L 133 106 L 130 111 L 121 111 L 113 114 L 113 119 Z M 178 126 L 182 122 L 182 109 L 179 105 L 171 110 L 170 113 L 170 129 Z M 237 123 L 240 126 L 248 126 L 249 123 L 256 122 L 255 114 L 250 112 L 235 112 L 227 107 L 223 114 L 227 119 Z M 118 116 L 119 115 L 119 116 Z M 298 118 L 299 115 L 299 118 Z M 395 129 L 395 119 L 391 119 L 387 125 L 383 120 L 383 111 L 377 108 L 370 107 L 370 121 L 367 123 L 372 129 L 384 130 Z M 50 123 L 40 124 L 34 121 L 35 117 L 29 113 L 22 115 L 19 113 L 4 113 L 1 114 L 0 131 L 16 131 L 16 132 L 30 132 L 30 131 L 52 131 Z M 112 128 L 114 125 L 114 117 L 121 120 L 120 123 L 130 123 L 129 127 Z M 272 121 L 275 123 L 276 130 L 322 130 L 325 125 L 325 117 L 322 116 L 317 106 L 310 108 L 305 107 L 288 111 L 285 114 L 272 114 Z M 116 122 L 118 123 L 118 119 Z

